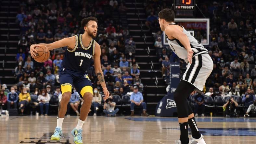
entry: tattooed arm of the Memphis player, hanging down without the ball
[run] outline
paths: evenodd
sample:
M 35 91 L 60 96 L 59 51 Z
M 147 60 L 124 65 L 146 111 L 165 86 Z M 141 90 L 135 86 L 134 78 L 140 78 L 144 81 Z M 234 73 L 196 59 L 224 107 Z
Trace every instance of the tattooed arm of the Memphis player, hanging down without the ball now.
M 99 83 L 103 89 L 103 92 L 105 94 L 105 97 L 103 98 L 104 100 L 107 100 L 109 98 L 109 91 L 106 87 L 106 83 L 104 80 L 104 75 L 103 72 L 101 70 L 101 65 L 100 65 L 100 54 L 101 54 L 101 50 L 100 50 L 100 46 L 98 43 L 95 44 L 95 52 L 94 52 L 94 69 L 95 69 L 95 73 L 96 76 L 99 80 Z

